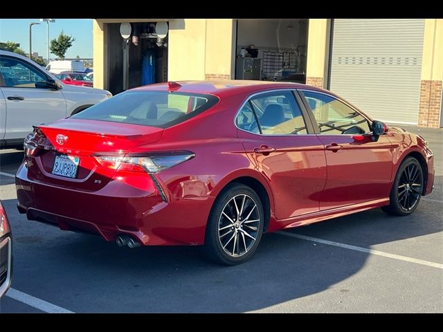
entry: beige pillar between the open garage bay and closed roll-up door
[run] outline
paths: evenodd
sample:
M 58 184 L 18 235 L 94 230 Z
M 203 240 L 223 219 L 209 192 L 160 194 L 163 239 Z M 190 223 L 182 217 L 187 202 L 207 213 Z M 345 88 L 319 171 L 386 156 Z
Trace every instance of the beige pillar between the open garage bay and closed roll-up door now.
M 329 56 L 330 19 L 309 19 L 307 77 L 321 77 L 325 86 Z

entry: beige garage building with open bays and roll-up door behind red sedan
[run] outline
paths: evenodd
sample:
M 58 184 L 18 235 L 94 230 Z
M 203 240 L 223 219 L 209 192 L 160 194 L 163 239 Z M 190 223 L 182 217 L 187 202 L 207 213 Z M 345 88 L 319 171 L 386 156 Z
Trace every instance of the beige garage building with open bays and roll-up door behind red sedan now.
M 377 120 L 443 127 L 443 19 L 96 19 L 93 32 L 94 86 L 114 94 L 168 80 L 289 80 Z

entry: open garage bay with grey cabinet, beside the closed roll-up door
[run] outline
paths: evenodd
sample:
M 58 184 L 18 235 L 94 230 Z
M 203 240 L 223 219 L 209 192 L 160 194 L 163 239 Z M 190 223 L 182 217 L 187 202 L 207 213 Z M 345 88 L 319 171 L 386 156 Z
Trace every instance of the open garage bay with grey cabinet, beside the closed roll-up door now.
M 236 80 L 306 82 L 308 19 L 237 19 Z

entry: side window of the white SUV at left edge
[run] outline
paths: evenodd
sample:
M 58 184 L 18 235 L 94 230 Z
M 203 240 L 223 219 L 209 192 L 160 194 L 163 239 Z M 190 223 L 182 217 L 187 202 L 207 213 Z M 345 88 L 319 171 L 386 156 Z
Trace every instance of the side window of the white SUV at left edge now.
M 36 68 L 12 57 L 0 57 L 0 74 L 1 86 L 35 88 L 36 82 L 46 81 L 46 76 Z

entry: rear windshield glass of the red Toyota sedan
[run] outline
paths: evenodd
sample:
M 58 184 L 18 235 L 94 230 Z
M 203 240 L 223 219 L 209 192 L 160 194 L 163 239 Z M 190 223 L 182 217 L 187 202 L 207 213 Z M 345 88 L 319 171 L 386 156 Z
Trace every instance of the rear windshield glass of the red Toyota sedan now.
M 168 91 L 127 91 L 71 116 L 76 119 L 143 124 L 168 128 L 206 111 L 213 95 Z

